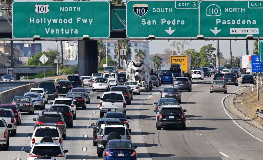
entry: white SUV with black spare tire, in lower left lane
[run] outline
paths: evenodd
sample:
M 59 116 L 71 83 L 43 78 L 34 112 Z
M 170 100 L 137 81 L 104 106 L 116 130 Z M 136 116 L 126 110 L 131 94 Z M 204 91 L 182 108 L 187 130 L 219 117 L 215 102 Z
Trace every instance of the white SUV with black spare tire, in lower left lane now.
M 32 147 L 34 143 L 47 142 L 46 140 L 50 138 L 54 143 L 59 143 L 63 147 L 62 135 L 59 128 L 55 126 L 38 126 L 33 134 L 29 133 L 28 136 L 31 137 L 30 147 Z

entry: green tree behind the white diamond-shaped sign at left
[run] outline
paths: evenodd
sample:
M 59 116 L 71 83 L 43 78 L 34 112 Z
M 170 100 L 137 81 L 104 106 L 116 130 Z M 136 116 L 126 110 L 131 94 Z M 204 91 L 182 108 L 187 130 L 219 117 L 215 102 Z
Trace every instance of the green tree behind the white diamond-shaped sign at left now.
M 57 50 L 49 49 L 48 51 L 39 52 L 33 58 L 29 59 L 26 65 L 29 66 L 42 66 L 43 63 L 39 60 L 39 58 L 45 54 L 48 57 L 48 61 L 45 63 L 47 66 L 55 66 L 54 59 L 57 59 Z

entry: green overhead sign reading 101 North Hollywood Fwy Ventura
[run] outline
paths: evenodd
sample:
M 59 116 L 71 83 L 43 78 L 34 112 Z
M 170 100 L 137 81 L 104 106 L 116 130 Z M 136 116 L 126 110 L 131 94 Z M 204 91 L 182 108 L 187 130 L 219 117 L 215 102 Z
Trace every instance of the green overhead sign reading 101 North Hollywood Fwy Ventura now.
M 108 38 L 108 1 L 13 2 L 13 38 Z

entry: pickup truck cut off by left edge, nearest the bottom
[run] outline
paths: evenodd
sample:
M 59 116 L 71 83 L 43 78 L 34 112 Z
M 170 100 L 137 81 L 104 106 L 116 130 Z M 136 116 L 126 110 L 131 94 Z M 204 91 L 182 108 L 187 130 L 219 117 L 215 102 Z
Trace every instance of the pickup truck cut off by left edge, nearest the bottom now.
M 8 128 L 11 128 L 12 125 L 6 124 L 4 118 L 0 118 L 0 146 L 3 146 L 5 151 L 8 150 L 9 147 L 9 136 L 8 136 Z

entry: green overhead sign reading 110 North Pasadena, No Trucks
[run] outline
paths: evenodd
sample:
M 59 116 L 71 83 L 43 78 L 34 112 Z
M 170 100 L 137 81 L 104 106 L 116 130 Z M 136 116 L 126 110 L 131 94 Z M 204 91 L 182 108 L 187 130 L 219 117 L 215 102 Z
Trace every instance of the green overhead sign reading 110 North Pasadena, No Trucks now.
M 204 37 L 263 37 L 263 1 L 200 1 Z

